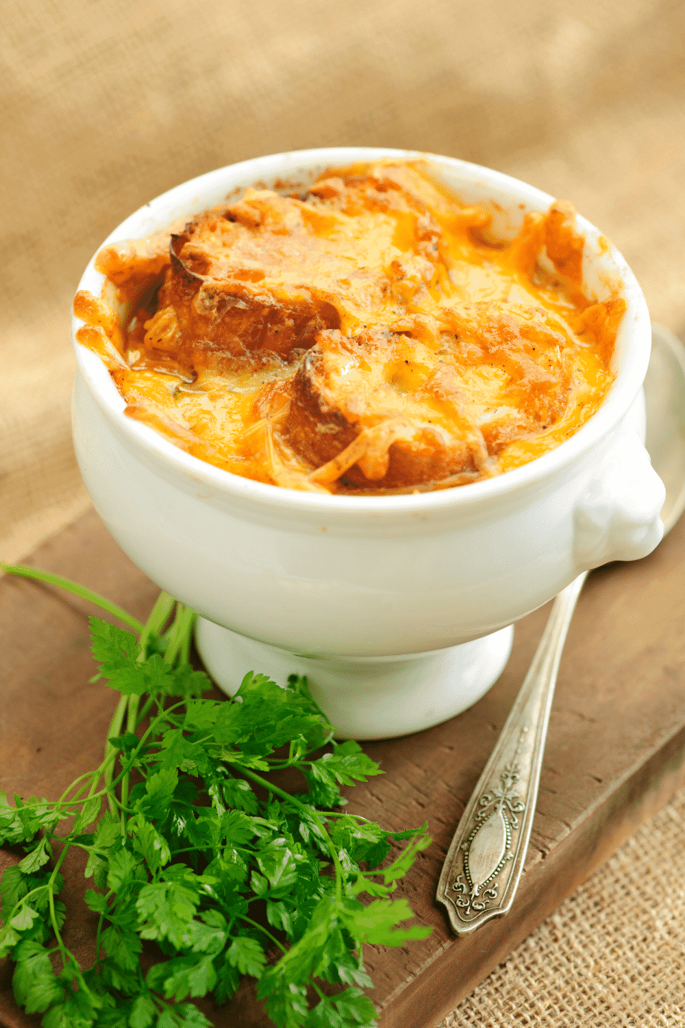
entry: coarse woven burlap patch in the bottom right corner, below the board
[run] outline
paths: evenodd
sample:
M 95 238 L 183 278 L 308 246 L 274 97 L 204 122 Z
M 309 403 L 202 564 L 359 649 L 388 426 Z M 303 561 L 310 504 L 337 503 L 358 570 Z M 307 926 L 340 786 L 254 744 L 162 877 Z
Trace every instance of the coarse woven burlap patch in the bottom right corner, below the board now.
M 562 904 L 443 1028 L 683 1025 L 685 792 Z

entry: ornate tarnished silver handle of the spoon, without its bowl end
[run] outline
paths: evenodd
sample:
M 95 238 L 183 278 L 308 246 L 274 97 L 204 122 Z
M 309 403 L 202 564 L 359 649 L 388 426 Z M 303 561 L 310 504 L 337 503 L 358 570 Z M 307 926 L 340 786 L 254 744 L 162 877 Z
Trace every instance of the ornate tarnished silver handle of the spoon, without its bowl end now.
M 511 909 L 535 814 L 559 661 L 584 572 L 555 599 L 528 674 L 443 866 L 437 900 L 467 935 Z

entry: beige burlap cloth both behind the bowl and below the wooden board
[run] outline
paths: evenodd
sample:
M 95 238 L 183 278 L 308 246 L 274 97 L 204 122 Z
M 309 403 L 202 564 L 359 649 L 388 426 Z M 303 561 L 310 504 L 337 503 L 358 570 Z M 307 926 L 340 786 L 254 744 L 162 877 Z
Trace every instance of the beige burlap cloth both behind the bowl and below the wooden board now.
M 222 164 L 332 145 L 488 164 L 573 200 L 652 317 L 685 329 L 682 0 L 26 0 L 0 33 L 0 559 L 88 505 L 69 426 L 85 263 L 127 214 Z M 635 869 L 648 891 L 672 877 L 664 853 L 682 862 L 671 809 L 665 848 L 643 831 L 448 1024 L 685 1024 L 682 890 L 658 917 L 641 908 L 630 944 L 624 928 Z

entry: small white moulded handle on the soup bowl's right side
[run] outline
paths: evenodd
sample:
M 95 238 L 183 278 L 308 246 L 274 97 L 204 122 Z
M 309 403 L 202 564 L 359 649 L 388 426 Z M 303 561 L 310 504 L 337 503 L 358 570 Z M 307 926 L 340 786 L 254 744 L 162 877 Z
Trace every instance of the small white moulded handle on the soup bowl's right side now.
M 663 537 L 665 488 L 637 432 L 616 440 L 587 481 L 574 513 L 579 572 L 646 557 Z

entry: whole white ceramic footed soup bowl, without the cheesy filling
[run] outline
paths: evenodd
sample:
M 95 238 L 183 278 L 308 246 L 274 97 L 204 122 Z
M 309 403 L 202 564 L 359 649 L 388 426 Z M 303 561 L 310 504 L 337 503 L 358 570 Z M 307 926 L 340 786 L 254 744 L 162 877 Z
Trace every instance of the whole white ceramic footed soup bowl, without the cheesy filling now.
M 184 183 L 105 243 L 147 236 L 256 182 L 306 186 L 330 167 L 417 156 L 427 156 L 465 203 L 489 204 L 501 238 L 516 233 L 527 211 L 546 211 L 553 200 L 449 157 L 306 150 Z M 200 615 L 200 655 L 227 692 L 251 669 L 281 685 L 289 673 L 307 673 L 341 736 L 426 728 L 490 688 L 518 618 L 580 572 L 643 557 L 657 545 L 664 491 L 642 442 L 649 317 L 620 254 L 582 218 L 578 226 L 586 295 L 604 299 L 621 282 L 627 303 L 615 381 L 600 410 L 557 449 L 471 485 L 349 497 L 240 478 L 124 416 L 105 365 L 75 342 L 74 441 L 92 502 L 129 557 Z M 91 261 L 79 289 L 100 295 L 103 284 Z

